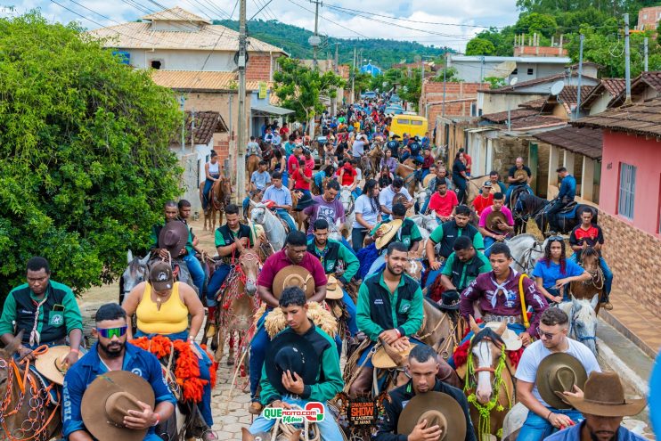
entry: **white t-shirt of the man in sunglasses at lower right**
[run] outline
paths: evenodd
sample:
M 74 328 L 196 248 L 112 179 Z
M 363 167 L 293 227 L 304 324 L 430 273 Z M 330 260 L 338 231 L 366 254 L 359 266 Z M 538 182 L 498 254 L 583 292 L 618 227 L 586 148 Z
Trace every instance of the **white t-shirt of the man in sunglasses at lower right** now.
M 590 376 L 590 372 L 592 371 L 601 372 L 597 358 L 592 354 L 592 351 L 588 347 L 574 339 L 567 339 L 567 341 L 569 342 L 569 349 L 567 349 L 566 354 L 577 358 L 578 361 L 583 364 L 588 376 Z M 521 360 L 518 362 L 517 374 L 515 375 L 517 380 L 534 383 L 533 396 L 535 396 L 535 398 L 546 407 L 550 406 L 542 399 L 542 396 L 539 395 L 535 380 L 537 380 L 537 368 L 539 367 L 539 364 L 542 363 L 544 358 L 551 354 L 551 351 L 544 347 L 542 340 L 535 341 L 535 343 L 526 347 L 526 350 L 523 351 Z

